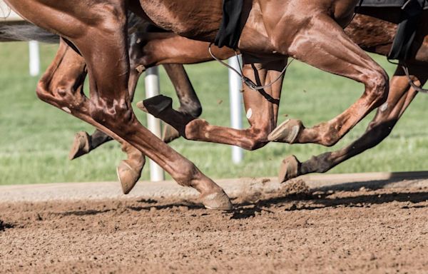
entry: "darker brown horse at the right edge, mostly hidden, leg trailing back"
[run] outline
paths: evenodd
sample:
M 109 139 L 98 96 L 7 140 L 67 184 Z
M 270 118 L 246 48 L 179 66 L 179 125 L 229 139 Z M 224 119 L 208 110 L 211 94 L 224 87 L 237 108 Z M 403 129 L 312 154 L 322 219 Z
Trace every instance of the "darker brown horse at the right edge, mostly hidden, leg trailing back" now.
M 346 33 L 362 49 L 387 56 L 397 30 L 400 10 L 362 8 L 361 12 L 365 15 L 357 15 L 350 26 L 345 29 Z M 419 22 L 409 58 L 400 60 L 400 63 L 407 64 L 409 76 L 417 86 L 423 86 L 427 82 L 428 11 L 424 11 Z M 377 146 L 384 138 L 387 138 L 418 93 L 409 83 L 409 78 L 400 65 L 397 66 L 389 86 L 387 101 L 377 109 L 376 116 L 360 138 L 345 148 L 313 156 L 303 163 L 300 163 L 295 156 L 285 158 L 280 168 L 280 181 L 287 181 L 307 173 L 327 172 L 343 161 Z

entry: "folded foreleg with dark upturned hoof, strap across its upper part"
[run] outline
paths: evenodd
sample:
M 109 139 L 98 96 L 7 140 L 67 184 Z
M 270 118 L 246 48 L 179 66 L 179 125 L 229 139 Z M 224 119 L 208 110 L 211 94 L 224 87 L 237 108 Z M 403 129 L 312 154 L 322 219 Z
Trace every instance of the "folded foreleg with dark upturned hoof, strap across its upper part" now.
M 253 91 L 244 87 L 244 102 L 250 128 L 239 130 L 212 126 L 207 121 L 180 113 L 172 108 L 172 101 L 165 96 L 146 99 L 143 102 L 146 111 L 161 118 L 173 126 L 180 135 L 195 141 L 208 141 L 240 146 L 255 150 L 267 143 L 267 135 L 272 131 L 277 121 L 279 99 L 267 101 L 266 97 L 280 98 L 283 76 L 280 75 L 286 61 L 270 61 L 264 64 L 253 64 L 249 56 L 243 56 L 243 73 L 255 83 L 263 85 L 280 76 L 280 81 L 263 91 Z

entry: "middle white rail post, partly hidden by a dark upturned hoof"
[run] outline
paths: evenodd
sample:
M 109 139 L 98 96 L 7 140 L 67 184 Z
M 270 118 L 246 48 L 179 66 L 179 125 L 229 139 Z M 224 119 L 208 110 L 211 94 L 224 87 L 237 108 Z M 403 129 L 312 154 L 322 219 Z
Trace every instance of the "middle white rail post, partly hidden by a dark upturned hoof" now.
M 159 69 L 158 67 L 148 68 L 146 71 L 145 78 L 146 85 L 146 98 L 159 95 L 160 84 L 159 84 Z M 161 121 L 155 118 L 151 114 L 147 114 L 147 125 L 148 129 L 158 137 L 161 137 Z M 157 163 L 150 161 L 150 179 L 151 181 L 163 181 L 165 180 L 165 174 L 163 169 L 158 166 Z

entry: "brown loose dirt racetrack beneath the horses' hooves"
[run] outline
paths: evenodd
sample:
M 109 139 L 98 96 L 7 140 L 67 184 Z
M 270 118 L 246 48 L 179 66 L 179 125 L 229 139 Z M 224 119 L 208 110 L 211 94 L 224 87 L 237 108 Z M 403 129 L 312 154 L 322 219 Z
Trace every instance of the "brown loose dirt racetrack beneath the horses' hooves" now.
M 7 200 L 0 273 L 427 273 L 428 184 L 350 186 L 247 188 L 228 213 L 170 197 Z

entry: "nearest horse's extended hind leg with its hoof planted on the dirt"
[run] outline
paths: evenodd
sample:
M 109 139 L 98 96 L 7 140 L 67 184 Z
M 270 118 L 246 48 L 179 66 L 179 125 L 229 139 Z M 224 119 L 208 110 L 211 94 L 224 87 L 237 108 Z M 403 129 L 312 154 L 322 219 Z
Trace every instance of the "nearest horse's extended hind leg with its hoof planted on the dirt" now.
M 91 117 L 158 163 L 180 185 L 195 188 L 205 207 L 232 208 L 220 186 L 138 122 L 128 94 L 126 10 L 122 5 L 108 8 L 114 12 L 93 14 L 97 26 L 86 28 L 81 38 L 73 41 L 88 66 Z

